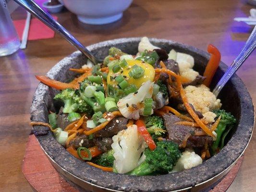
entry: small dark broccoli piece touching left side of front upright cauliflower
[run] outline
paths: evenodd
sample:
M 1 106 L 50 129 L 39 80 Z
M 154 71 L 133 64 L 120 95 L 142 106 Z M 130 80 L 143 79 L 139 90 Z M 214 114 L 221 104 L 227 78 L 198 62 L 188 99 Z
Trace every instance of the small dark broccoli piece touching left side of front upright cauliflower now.
M 111 149 L 108 152 L 103 153 L 102 155 L 96 157 L 94 162 L 97 165 L 112 168 L 115 160 L 115 157 L 113 155 L 114 155 L 114 150 Z

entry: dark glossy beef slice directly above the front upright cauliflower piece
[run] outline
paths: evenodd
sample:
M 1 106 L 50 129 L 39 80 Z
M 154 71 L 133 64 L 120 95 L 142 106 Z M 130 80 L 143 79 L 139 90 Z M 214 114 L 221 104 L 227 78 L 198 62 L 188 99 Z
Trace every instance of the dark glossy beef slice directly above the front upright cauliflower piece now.
M 126 129 L 126 124 L 128 119 L 124 117 L 114 118 L 109 122 L 109 124 L 102 130 L 93 133 L 94 137 L 112 137 L 116 135 L 119 131 Z

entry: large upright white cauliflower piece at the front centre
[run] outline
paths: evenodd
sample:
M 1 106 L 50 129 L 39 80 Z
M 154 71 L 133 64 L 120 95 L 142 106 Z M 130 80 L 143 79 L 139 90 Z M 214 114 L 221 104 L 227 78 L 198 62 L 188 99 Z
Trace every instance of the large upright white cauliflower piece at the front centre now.
M 118 173 L 127 173 L 138 167 L 146 156 L 141 154 L 146 148 L 146 142 L 138 134 L 137 126 L 131 125 L 112 137 L 114 150 L 114 168 Z

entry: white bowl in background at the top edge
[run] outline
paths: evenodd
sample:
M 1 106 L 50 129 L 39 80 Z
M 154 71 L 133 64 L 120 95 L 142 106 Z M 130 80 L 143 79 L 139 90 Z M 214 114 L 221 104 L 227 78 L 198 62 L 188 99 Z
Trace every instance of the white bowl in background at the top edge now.
M 122 18 L 133 0 L 62 0 L 65 7 L 85 24 L 109 24 Z

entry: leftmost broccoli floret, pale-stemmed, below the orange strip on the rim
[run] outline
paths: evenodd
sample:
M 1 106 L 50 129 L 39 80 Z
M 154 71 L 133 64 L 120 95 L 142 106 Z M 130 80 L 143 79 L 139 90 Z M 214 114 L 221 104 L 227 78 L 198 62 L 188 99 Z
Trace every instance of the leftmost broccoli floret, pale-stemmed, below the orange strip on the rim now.
M 54 99 L 61 99 L 64 102 L 64 113 L 75 112 L 78 109 L 78 104 L 75 101 L 75 92 L 73 89 L 68 88 L 61 91 L 61 93 L 57 94 Z

